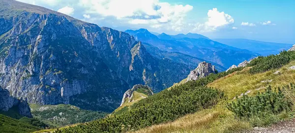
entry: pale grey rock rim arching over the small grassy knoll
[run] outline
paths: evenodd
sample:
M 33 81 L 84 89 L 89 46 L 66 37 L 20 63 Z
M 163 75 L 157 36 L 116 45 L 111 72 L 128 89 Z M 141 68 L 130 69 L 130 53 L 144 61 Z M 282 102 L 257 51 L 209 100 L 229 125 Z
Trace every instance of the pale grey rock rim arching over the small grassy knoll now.
M 139 88 L 143 88 L 143 89 L 147 90 L 148 93 L 149 93 L 150 95 L 153 95 L 152 90 L 151 90 L 147 85 L 141 85 L 141 84 L 134 85 L 134 86 L 132 87 L 132 89 L 129 89 L 129 90 L 127 90 L 127 91 L 124 93 L 124 95 L 123 95 L 123 99 L 122 99 L 122 102 L 121 102 L 120 106 L 123 105 L 123 103 L 125 102 L 125 99 L 126 99 L 126 98 L 128 98 L 128 102 L 130 102 L 131 99 L 133 98 L 133 92 L 136 91 L 136 90 L 139 89 Z

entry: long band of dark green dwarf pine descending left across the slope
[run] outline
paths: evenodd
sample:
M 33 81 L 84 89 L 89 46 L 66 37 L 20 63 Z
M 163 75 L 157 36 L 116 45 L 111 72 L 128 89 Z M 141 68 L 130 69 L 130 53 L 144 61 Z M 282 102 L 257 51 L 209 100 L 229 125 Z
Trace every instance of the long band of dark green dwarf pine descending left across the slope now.
M 195 82 L 190 82 L 140 100 L 122 114 L 109 115 L 56 133 L 121 133 L 138 130 L 208 108 L 223 96 L 224 93 L 216 89 L 196 86 Z

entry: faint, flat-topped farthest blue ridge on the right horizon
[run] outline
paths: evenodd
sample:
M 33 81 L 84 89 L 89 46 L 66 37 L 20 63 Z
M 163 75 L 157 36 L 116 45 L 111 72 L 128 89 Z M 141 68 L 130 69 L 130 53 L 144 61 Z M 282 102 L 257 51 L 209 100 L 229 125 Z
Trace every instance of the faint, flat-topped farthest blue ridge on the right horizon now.
M 263 42 L 248 39 L 213 39 L 215 41 L 227 44 L 240 49 L 250 50 L 255 53 L 259 53 L 263 56 L 270 54 L 278 54 L 280 51 L 288 50 L 292 47 L 292 44 Z

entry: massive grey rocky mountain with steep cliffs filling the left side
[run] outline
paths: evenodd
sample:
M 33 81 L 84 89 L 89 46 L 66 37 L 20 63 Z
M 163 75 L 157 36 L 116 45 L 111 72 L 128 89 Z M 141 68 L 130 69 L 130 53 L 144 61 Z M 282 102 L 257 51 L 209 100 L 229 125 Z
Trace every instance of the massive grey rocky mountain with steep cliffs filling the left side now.
M 15 0 L 0 0 L 0 27 L 0 86 L 29 103 L 112 112 L 127 88 L 159 92 L 190 71 L 127 33 Z

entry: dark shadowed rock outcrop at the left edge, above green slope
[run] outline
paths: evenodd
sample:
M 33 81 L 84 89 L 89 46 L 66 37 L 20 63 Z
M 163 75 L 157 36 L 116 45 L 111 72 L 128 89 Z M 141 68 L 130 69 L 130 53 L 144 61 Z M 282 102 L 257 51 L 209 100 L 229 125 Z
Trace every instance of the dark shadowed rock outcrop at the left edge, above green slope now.
M 18 107 L 20 115 L 32 118 L 28 102 L 9 96 L 9 91 L 0 87 L 0 111 L 8 111 L 13 106 Z

